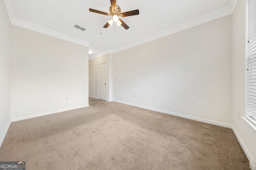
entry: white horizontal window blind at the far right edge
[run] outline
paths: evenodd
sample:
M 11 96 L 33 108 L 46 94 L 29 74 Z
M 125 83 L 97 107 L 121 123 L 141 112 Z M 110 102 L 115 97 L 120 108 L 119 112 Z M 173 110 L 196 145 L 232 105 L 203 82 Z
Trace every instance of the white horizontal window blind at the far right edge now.
M 256 125 L 256 0 L 248 0 L 247 118 Z

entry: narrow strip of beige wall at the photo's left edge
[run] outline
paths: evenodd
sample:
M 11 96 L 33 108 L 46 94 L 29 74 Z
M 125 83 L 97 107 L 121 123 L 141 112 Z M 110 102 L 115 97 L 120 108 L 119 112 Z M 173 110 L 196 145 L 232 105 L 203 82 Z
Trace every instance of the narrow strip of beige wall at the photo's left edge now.
M 11 23 L 0 1 L 0 147 L 11 123 Z M 4 111 L 6 116 L 4 117 Z

